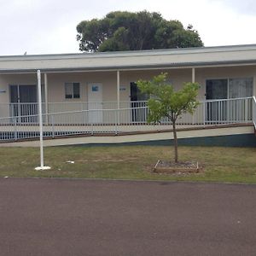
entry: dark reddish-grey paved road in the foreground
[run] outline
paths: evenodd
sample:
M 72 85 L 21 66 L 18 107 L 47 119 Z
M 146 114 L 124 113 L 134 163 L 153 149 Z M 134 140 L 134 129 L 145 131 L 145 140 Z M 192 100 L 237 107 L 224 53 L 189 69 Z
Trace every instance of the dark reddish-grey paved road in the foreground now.
M 0 255 L 256 255 L 256 186 L 0 179 Z

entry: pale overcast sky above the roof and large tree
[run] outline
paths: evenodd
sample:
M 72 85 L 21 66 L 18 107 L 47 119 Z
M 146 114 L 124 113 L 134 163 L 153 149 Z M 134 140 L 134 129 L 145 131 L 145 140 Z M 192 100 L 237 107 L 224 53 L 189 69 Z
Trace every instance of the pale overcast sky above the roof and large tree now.
M 192 24 L 205 46 L 256 44 L 255 0 L 0 0 L 0 55 L 79 52 L 76 26 L 114 10 Z

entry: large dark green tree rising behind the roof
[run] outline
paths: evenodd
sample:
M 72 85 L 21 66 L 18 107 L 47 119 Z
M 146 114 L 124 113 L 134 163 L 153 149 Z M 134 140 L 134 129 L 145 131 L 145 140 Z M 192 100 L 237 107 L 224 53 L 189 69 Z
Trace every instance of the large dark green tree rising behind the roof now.
M 193 26 L 165 20 L 159 13 L 116 11 L 77 26 L 79 49 L 86 52 L 203 46 Z

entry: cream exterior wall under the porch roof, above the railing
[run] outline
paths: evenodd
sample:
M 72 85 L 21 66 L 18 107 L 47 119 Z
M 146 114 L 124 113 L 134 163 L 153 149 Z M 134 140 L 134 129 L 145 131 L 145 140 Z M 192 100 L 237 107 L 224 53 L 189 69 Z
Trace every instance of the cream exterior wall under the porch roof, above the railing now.
M 152 79 L 161 72 L 168 73 L 168 79 L 176 89 L 182 87 L 183 82 L 192 79 L 191 68 L 148 70 L 148 71 L 120 71 L 120 101 L 130 101 L 130 83 L 138 79 Z M 48 73 L 48 101 L 49 102 L 87 102 L 87 84 L 102 83 L 103 102 L 117 100 L 117 74 L 113 72 L 84 72 L 84 73 Z M 253 77 L 253 94 L 256 95 L 256 66 L 247 67 L 208 67 L 195 68 L 195 82 L 201 84 L 198 98 L 205 99 L 206 79 Z M 79 82 L 81 84 L 80 99 L 65 99 L 65 82 Z M 42 75 L 44 83 L 44 75 Z M 0 103 L 9 102 L 9 84 L 37 84 L 37 73 L 34 74 L 0 74 Z M 125 90 L 124 90 L 125 89 Z

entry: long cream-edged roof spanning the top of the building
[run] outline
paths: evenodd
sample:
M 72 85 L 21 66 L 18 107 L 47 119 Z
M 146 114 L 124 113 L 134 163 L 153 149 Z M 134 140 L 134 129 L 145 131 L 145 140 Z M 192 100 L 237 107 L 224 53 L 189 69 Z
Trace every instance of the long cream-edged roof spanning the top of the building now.
M 256 44 L 102 53 L 0 56 L 0 73 L 256 65 Z

